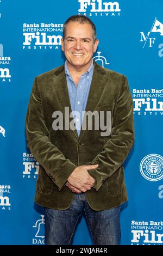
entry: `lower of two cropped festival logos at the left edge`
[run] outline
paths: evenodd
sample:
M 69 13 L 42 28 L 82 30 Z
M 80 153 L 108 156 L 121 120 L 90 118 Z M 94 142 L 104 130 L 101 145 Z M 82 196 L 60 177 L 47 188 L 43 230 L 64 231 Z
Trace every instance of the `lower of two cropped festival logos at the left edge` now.
M 0 209 L 1 210 L 11 210 L 10 209 L 10 185 L 0 185 Z

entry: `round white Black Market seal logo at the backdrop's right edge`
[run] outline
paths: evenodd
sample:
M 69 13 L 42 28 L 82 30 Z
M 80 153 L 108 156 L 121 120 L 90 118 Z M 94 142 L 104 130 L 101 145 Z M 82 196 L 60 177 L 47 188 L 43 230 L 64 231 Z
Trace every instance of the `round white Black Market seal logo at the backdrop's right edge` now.
M 163 178 L 163 157 L 157 154 L 145 156 L 140 163 L 140 172 L 147 180 L 161 180 Z

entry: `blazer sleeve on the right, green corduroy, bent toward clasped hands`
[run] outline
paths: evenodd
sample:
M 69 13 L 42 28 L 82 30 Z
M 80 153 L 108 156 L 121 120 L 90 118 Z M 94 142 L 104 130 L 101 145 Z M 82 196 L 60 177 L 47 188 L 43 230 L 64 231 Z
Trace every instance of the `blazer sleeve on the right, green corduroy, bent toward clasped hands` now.
M 96 180 L 94 185 L 96 191 L 121 167 L 134 144 L 133 100 L 127 78 L 124 75 L 122 78 L 123 82 L 112 121 L 111 137 L 104 144 L 103 151 L 92 162 L 87 163 L 98 163 L 97 169 L 87 170 Z

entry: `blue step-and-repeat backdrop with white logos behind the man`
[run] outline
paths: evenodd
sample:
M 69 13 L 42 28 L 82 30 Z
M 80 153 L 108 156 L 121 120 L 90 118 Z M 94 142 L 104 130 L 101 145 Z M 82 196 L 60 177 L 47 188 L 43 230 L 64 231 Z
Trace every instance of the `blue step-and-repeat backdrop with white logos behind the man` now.
M 0 1 L 0 244 L 43 245 L 45 218 L 34 203 L 39 163 L 24 122 L 34 77 L 64 63 L 62 25 L 74 14 L 95 22 L 96 62 L 128 77 L 135 144 L 126 162 L 128 203 L 121 245 L 163 244 L 163 1 Z M 55 100 L 55 99 L 54 99 Z M 83 217 L 73 245 L 92 245 Z

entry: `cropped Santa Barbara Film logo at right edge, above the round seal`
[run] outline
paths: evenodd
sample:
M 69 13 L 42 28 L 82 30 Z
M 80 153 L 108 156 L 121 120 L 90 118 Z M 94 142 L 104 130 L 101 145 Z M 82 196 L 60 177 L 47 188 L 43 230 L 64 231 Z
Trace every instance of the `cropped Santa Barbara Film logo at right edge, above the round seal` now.
M 163 89 L 133 89 L 135 115 L 163 115 Z

